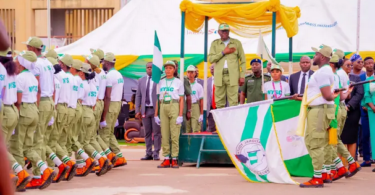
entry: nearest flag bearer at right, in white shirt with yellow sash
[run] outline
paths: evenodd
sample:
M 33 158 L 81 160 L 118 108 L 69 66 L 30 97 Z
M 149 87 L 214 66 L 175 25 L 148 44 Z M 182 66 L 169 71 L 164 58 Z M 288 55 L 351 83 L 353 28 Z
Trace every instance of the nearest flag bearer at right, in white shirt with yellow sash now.
M 328 145 L 328 131 L 330 122 L 335 118 L 333 100 L 338 96 L 334 93 L 334 74 L 328 65 L 332 56 L 332 49 L 322 45 L 315 51 L 314 65 L 319 66 L 307 85 L 307 127 L 305 144 L 312 158 L 314 167 L 313 178 L 300 184 L 303 188 L 323 187 L 322 167 L 324 163 L 324 147 Z

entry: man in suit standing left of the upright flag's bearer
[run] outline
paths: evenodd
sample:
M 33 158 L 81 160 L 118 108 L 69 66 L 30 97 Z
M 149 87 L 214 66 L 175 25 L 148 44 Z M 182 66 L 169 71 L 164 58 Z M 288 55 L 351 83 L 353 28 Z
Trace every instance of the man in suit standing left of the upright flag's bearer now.
M 146 156 L 141 160 L 160 160 L 159 152 L 161 146 L 160 126 L 154 120 L 154 104 L 156 103 L 156 83 L 151 79 L 152 62 L 146 64 L 147 75 L 138 81 L 138 89 L 135 96 L 136 118 L 142 119 L 145 128 Z M 154 141 L 152 141 L 152 134 Z M 154 143 L 154 151 L 152 151 Z

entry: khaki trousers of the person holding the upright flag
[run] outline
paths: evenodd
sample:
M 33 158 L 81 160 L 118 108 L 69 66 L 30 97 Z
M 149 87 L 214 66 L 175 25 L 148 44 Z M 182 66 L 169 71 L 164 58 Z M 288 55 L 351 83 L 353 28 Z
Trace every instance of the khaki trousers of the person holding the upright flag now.
M 178 157 L 181 125 L 176 124 L 176 119 L 179 112 L 178 101 L 160 104 L 161 148 L 164 157 Z

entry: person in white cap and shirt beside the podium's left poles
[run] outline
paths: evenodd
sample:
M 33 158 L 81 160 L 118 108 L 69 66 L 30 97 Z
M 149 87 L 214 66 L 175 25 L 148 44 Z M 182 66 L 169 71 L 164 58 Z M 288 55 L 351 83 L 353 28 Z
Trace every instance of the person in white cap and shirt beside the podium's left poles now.
M 196 82 L 196 68 L 193 65 L 188 66 L 187 75 L 191 86 L 191 118 L 186 121 L 186 133 L 199 132 L 201 122 L 203 121 L 203 87 Z

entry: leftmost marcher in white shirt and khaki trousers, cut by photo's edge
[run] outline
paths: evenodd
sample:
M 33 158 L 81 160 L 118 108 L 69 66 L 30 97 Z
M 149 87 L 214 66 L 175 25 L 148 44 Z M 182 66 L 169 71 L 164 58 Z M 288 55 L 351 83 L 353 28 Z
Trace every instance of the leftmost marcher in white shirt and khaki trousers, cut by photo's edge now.
M 17 102 L 17 86 L 16 86 L 16 64 L 12 58 L 10 50 L 0 52 L 0 66 L 6 69 L 6 76 L 4 80 L 5 90 L 3 97 L 3 121 L 1 123 L 2 132 L 5 138 L 5 143 L 9 145 L 10 137 L 12 136 L 14 128 L 18 123 L 19 112 L 15 106 Z M 0 68 L 1 68 L 0 67 Z M 8 158 L 14 173 L 18 177 L 16 184 L 16 191 L 23 191 L 26 185 L 31 181 L 32 177 L 23 170 L 22 166 L 18 164 L 13 155 L 8 151 Z

